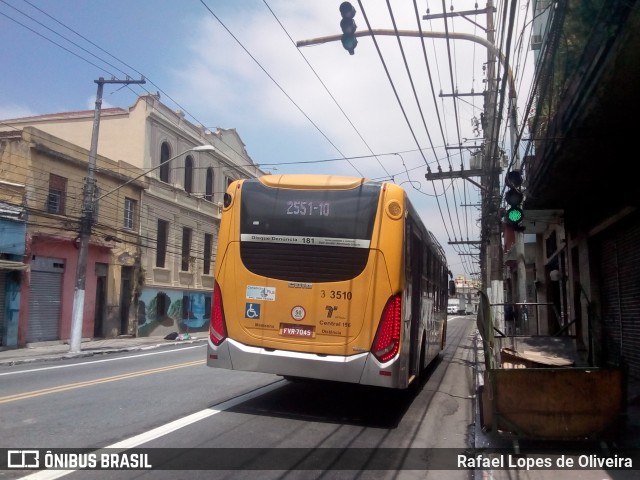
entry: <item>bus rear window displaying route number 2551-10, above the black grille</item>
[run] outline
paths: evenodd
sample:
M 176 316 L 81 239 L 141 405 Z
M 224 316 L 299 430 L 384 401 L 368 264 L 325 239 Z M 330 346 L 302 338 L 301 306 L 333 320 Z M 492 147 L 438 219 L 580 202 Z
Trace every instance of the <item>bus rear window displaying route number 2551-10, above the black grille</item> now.
M 242 187 L 240 233 L 243 241 L 368 247 L 380 185 L 349 190 L 290 190 L 247 180 Z

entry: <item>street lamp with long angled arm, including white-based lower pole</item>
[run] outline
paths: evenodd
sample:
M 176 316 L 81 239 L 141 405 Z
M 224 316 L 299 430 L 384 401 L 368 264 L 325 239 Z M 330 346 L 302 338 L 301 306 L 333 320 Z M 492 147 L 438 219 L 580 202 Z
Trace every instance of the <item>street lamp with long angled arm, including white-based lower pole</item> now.
M 87 253 L 89 251 L 89 238 L 91 236 L 91 214 L 95 210 L 94 206 L 98 203 L 99 200 L 104 197 L 111 195 L 112 193 L 120 190 L 122 187 L 129 185 L 132 182 L 135 182 L 140 177 L 145 176 L 149 172 L 153 172 L 154 170 L 160 168 L 163 165 L 166 165 L 169 162 L 172 162 L 176 158 L 181 157 L 185 153 L 189 152 L 213 152 L 215 148 L 213 145 L 198 145 L 197 147 L 192 147 L 184 152 L 176 155 L 175 157 L 171 157 L 164 162 L 161 162 L 160 165 L 157 165 L 144 173 L 141 173 L 137 177 L 131 178 L 124 182 L 122 185 L 117 186 L 113 190 L 105 193 L 104 195 L 100 195 L 95 200 L 92 200 L 90 203 L 90 207 L 86 212 L 86 215 L 83 219 L 83 228 L 80 235 L 80 247 L 78 253 L 78 269 L 76 275 L 76 291 L 73 297 L 73 313 L 71 316 L 71 333 L 69 335 L 69 352 L 78 353 L 81 349 L 82 342 L 82 325 L 84 323 L 84 294 L 85 294 L 85 280 L 87 277 Z

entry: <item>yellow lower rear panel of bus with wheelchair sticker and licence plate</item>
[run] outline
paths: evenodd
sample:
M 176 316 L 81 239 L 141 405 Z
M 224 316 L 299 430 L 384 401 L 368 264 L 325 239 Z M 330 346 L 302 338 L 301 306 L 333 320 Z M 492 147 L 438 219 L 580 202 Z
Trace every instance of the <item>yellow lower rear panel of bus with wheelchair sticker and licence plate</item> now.
M 365 271 L 351 281 L 287 282 L 247 272 L 239 266 L 237 243 L 230 245 L 218 277 L 223 292 L 234 292 L 223 294 L 228 335 L 264 348 L 328 355 L 368 351 L 393 294 L 382 255 L 371 250 L 369 258 Z

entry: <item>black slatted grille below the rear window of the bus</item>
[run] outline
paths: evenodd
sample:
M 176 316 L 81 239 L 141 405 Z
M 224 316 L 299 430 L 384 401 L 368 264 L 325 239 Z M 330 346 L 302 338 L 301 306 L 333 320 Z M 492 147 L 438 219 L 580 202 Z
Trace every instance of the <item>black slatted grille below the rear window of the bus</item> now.
M 358 276 L 369 250 L 283 243 L 241 242 L 245 267 L 256 275 L 290 282 L 338 282 Z

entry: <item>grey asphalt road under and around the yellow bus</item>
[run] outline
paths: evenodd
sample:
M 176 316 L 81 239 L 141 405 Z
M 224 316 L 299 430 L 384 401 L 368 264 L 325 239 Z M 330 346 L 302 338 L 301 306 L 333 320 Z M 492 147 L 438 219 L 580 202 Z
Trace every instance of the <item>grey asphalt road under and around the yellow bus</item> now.
M 474 317 L 450 317 L 445 351 L 420 388 L 404 392 L 211 369 L 203 344 L 3 368 L 0 448 L 162 449 L 153 450 L 156 468 L 189 470 L 69 468 L 29 478 L 471 478 L 403 469 L 422 461 L 403 455 L 411 448 L 437 465 L 447 450 L 434 449 L 474 445 L 474 332 Z M 356 470 L 336 469 L 335 458 L 309 470 L 304 455 L 317 451 L 369 458 L 347 454 Z M 213 464 L 233 460 L 260 472 Z M 190 470 L 198 465 L 207 470 Z

